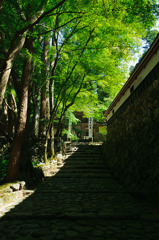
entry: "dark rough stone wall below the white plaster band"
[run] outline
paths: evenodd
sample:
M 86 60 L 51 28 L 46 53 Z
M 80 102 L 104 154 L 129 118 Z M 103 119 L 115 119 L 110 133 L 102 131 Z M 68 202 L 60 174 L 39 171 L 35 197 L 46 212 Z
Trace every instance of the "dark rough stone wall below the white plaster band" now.
M 159 75 L 108 124 L 103 152 L 131 191 L 159 198 Z

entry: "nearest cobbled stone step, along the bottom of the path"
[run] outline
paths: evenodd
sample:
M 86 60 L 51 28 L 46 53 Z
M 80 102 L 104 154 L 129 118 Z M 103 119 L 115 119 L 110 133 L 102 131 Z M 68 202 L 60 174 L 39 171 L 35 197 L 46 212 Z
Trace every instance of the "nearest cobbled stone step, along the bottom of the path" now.
M 14 221 L 13 221 L 14 220 Z M 25 221 L 24 221 L 25 220 Z M 7 230 L 9 226 L 9 231 Z M 156 228 L 156 230 L 155 230 Z M 61 240 L 157 240 L 158 222 L 149 223 L 130 216 L 112 218 L 19 216 L 0 223 L 2 239 Z M 16 236 L 16 237 L 15 237 Z M 14 238 L 13 238 L 14 237 Z

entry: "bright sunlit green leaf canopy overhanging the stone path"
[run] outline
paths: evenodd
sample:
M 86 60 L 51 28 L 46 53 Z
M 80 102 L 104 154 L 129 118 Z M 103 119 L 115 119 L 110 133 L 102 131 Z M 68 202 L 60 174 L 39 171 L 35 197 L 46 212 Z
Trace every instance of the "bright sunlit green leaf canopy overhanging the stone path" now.
M 16 34 L 59 2 L 5 1 L 0 15 L 2 67 Z M 34 39 L 33 54 L 24 45 L 13 66 L 20 89 L 23 62 L 32 58 L 31 117 L 35 99 L 40 107 L 40 92 L 46 91 L 49 78 L 50 83 L 54 81 L 54 100 L 58 106 L 54 119 L 56 117 L 57 123 L 62 114 L 68 119 L 70 107 L 72 112 L 84 111 L 87 117 L 92 108 L 93 117 L 102 121 L 102 112 L 127 79 L 127 63 L 138 51 L 140 39 L 146 38 L 150 44 L 155 36 L 156 32 L 150 29 L 157 15 L 156 0 L 66 0 L 55 11 L 41 17 L 27 32 L 27 37 Z M 47 42 L 47 56 L 44 42 Z M 9 94 L 16 97 L 16 91 L 13 83 L 8 85 Z M 52 119 L 41 121 L 47 125 Z

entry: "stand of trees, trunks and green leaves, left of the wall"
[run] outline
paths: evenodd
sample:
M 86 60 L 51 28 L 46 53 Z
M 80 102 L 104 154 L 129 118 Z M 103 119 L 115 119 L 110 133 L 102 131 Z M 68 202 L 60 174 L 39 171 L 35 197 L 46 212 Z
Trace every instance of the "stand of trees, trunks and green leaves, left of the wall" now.
M 139 39 L 152 38 L 158 6 L 147 0 L 14 0 L 0 11 L 0 121 L 12 142 L 11 181 L 20 165 L 23 171 L 30 164 L 20 158 L 24 139 L 44 137 L 47 162 L 48 153 L 54 157 L 54 122 L 61 137 L 70 108 L 89 115 L 91 104 L 101 117 L 124 84 Z

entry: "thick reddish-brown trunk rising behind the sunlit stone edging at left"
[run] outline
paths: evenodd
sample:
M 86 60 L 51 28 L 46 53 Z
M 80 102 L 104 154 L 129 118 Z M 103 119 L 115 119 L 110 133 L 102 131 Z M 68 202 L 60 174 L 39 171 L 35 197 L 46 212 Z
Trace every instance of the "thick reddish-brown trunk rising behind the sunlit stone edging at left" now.
M 20 109 L 19 109 L 16 132 L 15 132 L 15 136 L 12 143 L 12 149 L 10 153 L 10 160 L 9 160 L 8 169 L 7 169 L 7 176 L 6 176 L 7 182 L 17 180 L 18 178 L 21 146 L 22 146 L 23 135 L 25 131 L 26 120 L 27 120 L 28 88 L 29 88 L 30 73 L 31 73 L 31 54 L 33 49 L 32 38 L 26 39 L 26 48 L 28 49 L 30 56 L 27 56 L 23 64 Z

